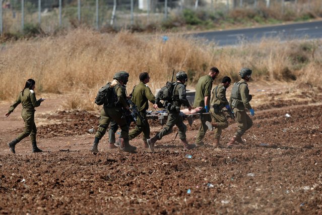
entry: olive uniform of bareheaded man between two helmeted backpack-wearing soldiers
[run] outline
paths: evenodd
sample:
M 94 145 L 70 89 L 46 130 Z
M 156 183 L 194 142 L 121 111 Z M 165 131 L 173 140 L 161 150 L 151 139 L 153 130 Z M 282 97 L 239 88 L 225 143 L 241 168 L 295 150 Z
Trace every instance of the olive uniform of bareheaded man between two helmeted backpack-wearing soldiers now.
M 131 130 L 129 133 L 130 140 L 143 132 L 143 141 L 146 141 L 147 139 L 150 139 L 150 125 L 147 120 L 146 111 L 149 109 L 149 101 L 153 104 L 155 103 L 155 96 L 152 94 L 150 88 L 141 81 L 134 87 L 132 101 L 137 105 L 143 122 L 137 117 L 137 125 L 135 129 Z

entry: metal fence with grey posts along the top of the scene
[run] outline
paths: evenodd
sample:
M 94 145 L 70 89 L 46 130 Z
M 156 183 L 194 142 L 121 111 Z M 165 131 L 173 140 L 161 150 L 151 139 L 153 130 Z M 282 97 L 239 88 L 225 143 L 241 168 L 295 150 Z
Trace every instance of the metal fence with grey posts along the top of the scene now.
M 313 0 L 0 0 L 0 33 L 39 25 L 45 32 L 86 25 L 97 30 L 149 25 L 183 9 L 227 11 L 234 8 L 285 7 Z

